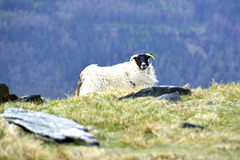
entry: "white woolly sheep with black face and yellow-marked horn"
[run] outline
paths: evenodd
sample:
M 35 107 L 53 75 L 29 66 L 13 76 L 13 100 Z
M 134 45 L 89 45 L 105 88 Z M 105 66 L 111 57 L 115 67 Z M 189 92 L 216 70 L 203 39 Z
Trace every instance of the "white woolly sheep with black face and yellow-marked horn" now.
M 129 89 L 140 86 L 153 86 L 158 82 L 149 58 L 152 54 L 135 54 L 129 62 L 114 66 L 87 66 L 79 75 L 76 96 L 104 91 L 111 88 Z

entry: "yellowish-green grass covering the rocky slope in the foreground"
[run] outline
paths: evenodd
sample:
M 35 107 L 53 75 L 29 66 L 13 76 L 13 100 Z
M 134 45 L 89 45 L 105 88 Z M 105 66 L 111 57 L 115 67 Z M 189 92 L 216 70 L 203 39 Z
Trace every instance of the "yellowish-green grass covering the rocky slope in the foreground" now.
M 47 100 L 45 105 L 5 103 L 73 119 L 89 128 L 100 147 L 56 145 L 0 118 L 0 159 L 239 159 L 240 84 L 213 83 L 177 102 L 154 97 L 117 100 L 132 90 Z M 205 129 L 181 128 L 183 122 Z

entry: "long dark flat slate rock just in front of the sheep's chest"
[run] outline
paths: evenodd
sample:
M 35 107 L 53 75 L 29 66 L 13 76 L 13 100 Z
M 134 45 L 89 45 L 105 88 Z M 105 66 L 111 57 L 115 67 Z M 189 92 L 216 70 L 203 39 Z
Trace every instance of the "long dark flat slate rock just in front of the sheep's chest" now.
M 147 97 L 147 96 L 154 96 L 158 97 L 166 93 L 174 93 L 178 91 L 180 95 L 187 95 L 191 94 L 191 90 L 182 87 L 176 86 L 154 86 L 150 88 L 144 88 L 140 91 L 130 93 L 126 96 L 118 98 L 118 100 L 125 99 L 125 98 L 137 98 L 137 97 Z

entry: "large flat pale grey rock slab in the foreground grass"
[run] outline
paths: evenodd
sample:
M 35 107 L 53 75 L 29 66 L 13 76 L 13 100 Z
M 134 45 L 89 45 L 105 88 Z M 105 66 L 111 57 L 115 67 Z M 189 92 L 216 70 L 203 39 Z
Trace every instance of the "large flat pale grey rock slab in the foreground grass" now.
M 98 141 L 85 126 L 70 119 L 20 108 L 8 108 L 1 116 L 10 123 L 57 143 L 70 142 L 99 146 Z

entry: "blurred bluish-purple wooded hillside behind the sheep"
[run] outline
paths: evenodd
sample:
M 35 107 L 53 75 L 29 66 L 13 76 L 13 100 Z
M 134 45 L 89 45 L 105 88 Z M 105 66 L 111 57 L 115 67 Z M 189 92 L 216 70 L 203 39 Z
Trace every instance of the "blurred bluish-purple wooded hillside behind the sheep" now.
M 240 0 L 0 0 L 0 82 L 63 98 L 89 64 L 152 53 L 159 84 L 240 80 Z

